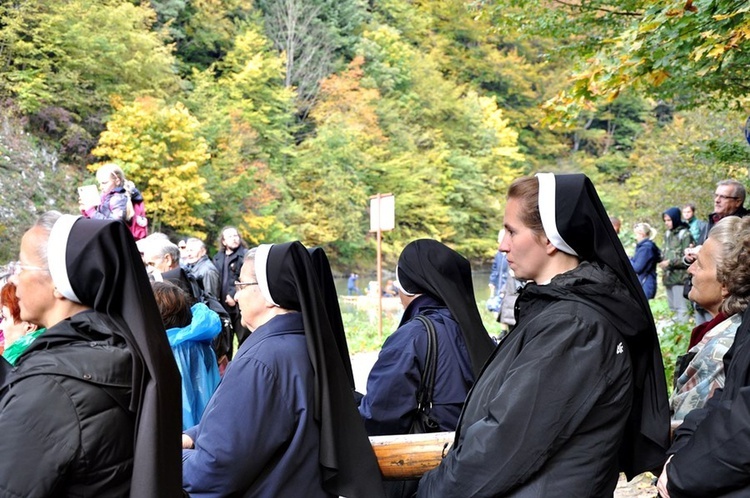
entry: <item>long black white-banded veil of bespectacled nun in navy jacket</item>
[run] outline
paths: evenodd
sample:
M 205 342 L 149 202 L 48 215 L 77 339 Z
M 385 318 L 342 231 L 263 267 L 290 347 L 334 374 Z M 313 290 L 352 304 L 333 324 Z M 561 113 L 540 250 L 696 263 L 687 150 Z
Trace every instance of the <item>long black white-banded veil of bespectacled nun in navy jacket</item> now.
M 302 313 L 315 372 L 323 486 L 347 497 L 382 497 L 380 469 L 352 396 L 312 258 L 300 242 L 258 246 L 255 275 L 266 300 Z

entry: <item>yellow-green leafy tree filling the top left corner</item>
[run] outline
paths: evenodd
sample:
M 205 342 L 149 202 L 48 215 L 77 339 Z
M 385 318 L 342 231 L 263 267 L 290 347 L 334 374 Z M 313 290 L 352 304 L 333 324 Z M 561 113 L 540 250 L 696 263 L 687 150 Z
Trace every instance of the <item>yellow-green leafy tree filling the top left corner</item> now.
M 0 5 L 0 96 L 26 113 L 59 106 L 82 121 L 113 95 L 165 97 L 174 59 L 147 6 L 115 0 Z

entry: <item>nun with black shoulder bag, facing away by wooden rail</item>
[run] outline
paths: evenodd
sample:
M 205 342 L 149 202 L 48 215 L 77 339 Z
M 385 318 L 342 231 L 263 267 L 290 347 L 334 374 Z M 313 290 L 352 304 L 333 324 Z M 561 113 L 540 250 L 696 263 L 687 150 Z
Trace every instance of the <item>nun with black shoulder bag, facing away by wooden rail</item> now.
M 426 324 L 416 319 L 423 316 L 437 339 L 429 416 L 435 430 L 453 431 L 466 395 L 495 347 L 477 309 L 471 265 L 445 244 L 419 239 L 404 247 L 396 277 L 404 314 L 370 371 L 360 415 L 371 436 L 410 431 L 428 349 Z

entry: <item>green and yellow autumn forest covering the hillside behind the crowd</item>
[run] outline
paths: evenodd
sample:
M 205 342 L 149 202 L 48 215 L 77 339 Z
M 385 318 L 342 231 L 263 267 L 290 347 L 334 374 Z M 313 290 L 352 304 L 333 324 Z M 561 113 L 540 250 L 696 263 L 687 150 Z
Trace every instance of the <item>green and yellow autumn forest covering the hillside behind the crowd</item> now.
M 489 259 L 516 177 L 584 172 L 627 228 L 747 183 L 745 0 L 0 2 L 0 256 L 102 162 L 154 229 Z M 18 198 L 14 197 L 18 195 Z M 625 233 L 624 239 L 629 235 Z

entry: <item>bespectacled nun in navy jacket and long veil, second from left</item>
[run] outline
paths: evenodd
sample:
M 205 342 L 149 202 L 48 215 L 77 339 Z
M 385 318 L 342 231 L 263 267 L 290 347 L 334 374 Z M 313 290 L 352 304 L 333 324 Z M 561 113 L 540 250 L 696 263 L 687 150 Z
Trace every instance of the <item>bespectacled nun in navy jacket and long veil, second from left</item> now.
M 183 435 L 192 497 L 382 497 L 320 284 L 299 242 L 250 249 L 235 283 L 252 334 Z

